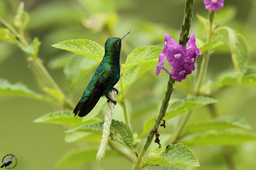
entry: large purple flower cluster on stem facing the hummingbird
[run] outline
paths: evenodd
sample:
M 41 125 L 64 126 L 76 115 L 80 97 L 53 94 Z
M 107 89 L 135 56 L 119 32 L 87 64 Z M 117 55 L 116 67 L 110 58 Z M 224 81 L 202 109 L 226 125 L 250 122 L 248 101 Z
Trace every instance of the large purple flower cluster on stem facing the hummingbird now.
M 180 82 L 195 70 L 196 57 L 202 53 L 196 47 L 195 34 L 189 37 L 186 44 L 187 48 L 179 45 L 176 40 L 171 38 L 170 34 L 164 34 L 164 36 L 164 50 L 161 51 L 159 55 L 158 64 L 156 66 L 156 76 L 158 76 L 161 69 L 163 69 L 171 73 L 174 80 Z M 173 67 L 172 72 L 163 66 L 165 58 L 169 65 Z

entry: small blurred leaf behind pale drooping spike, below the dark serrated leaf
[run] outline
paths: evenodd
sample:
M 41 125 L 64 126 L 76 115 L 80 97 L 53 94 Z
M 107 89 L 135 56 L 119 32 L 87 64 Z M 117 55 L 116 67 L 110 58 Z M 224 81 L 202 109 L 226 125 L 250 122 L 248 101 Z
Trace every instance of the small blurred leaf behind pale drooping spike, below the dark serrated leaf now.
M 79 140 L 86 140 L 88 142 L 97 143 L 97 144 L 100 143 L 100 139 L 101 139 L 100 134 L 89 133 L 89 132 L 71 132 L 71 133 L 67 133 L 64 138 L 65 142 L 67 143 L 76 142 Z

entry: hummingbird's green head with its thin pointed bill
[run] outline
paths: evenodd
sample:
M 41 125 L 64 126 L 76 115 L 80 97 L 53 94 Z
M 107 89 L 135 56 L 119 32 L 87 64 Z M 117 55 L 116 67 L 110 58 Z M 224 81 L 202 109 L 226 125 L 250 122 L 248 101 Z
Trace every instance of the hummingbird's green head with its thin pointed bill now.
M 129 31 L 128 33 L 130 33 L 131 31 Z M 108 40 L 105 43 L 105 54 L 108 55 L 116 55 L 120 56 L 120 50 L 121 50 L 121 41 L 122 39 L 128 34 L 125 33 L 122 37 L 117 38 L 117 37 L 110 37 L 108 38 Z

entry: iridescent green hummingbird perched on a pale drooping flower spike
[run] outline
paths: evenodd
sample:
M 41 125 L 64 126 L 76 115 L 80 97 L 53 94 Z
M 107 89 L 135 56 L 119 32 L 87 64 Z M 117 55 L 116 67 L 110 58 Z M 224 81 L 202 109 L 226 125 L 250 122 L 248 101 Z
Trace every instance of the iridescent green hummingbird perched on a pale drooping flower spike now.
M 128 33 L 130 33 L 129 31 Z M 105 95 L 109 101 L 116 105 L 116 101 L 108 95 L 110 90 L 118 90 L 114 87 L 120 78 L 120 50 L 121 41 L 128 34 L 125 33 L 122 37 L 111 37 L 105 43 L 105 55 L 96 69 L 90 83 L 84 90 L 82 98 L 77 103 L 73 113 L 75 116 L 84 117 L 93 109 L 100 100 L 100 97 Z

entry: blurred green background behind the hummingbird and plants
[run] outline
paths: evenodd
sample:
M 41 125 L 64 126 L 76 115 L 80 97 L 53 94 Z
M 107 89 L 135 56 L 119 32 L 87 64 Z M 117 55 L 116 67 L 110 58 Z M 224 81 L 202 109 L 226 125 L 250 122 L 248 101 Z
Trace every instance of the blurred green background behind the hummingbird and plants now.
M 36 36 L 41 41 L 39 57 L 52 77 L 76 103 L 82 95 L 95 70 L 92 70 L 69 90 L 69 84 L 63 74 L 63 67 L 71 53 L 51 47 L 52 44 L 68 39 L 90 39 L 104 46 L 108 37 L 120 37 L 127 31 L 129 36 L 122 41 L 120 63 L 138 46 L 164 44 L 164 33 L 170 33 L 178 40 L 181 22 L 184 16 L 185 1 L 173 0 L 24 0 L 25 10 L 30 21 L 25 35 L 28 40 Z M 0 17 L 13 25 L 18 0 L 0 0 Z M 218 10 L 217 19 L 221 26 L 229 26 L 242 33 L 251 49 L 250 65 L 256 66 L 256 1 L 225 0 L 224 8 Z M 203 0 L 195 0 L 194 17 L 190 33 L 205 40 L 203 26 L 196 18 L 196 13 L 207 17 Z M 219 13 L 219 15 L 218 15 Z M 0 41 L 0 78 L 11 83 L 23 82 L 30 89 L 43 93 L 40 82 L 35 79 L 33 70 L 29 68 L 25 55 L 19 48 Z M 56 58 L 58 60 L 56 60 Z M 200 60 L 200 59 L 199 59 Z M 56 65 L 57 62 L 62 65 Z M 206 82 L 214 82 L 222 72 L 232 71 L 233 64 L 228 43 L 215 50 L 211 55 Z M 140 134 L 142 122 L 156 115 L 159 102 L 162 100 L 167 74 L 155 76 L 153 68 L 136 81 L 128 93 L 130 113 L 132 114 L 133 132 Z M 184 98 L 192 92 L 186 81 L 180 83 L 172 98 Z M 218 115 L 241 115 L 256 132 L 256 88 L 249 85 L 224 87 L 216 93 Z M 148 107 L 150 104 L 150 108 Z M 67 127 L 52 124 L 37 124 L 32 121 L 48 112 L 58 110 L 56 106 L 39 100 L 21 97 L 0 96 L 0 157 L 14 154 L 18 159 L 15 167 L 20 170 L 58 169 L 57 160 L 67 151 L 77 147 L 91 147 L 80 141 L 65 143 L 63 131 Z M 105 109 L 103 109 L 105 110 Z M 104 116 L 102 111 L 100 117 Z M 122 109 L 117 105 L 114 119 L 123 120 Z M 209 120 L 211 117 L 206 108 L 197 109 L 190 122 Z M 169 122 L 172 126 L 172 122 Z M 168 131 L 162 130 L 163 133 Z M 161 140 L 161 138 L 160 138 Z M 97 144 L 98 145 L 98 144 Z M 153 144 L 157 146 L 157 144 Z M 190 148 L 196 155 L 201 167 L 194 169 L 213 170 L 228 169 L 225 156 L 220 146 L 203 146 Z M 234 162 L 237 169 L 254 169 L 256 167 L 256 143 L 233 147 Z M 60 169 L 131 169 L 132 164 L 121 157 L 103 159 L 82 166 Z

